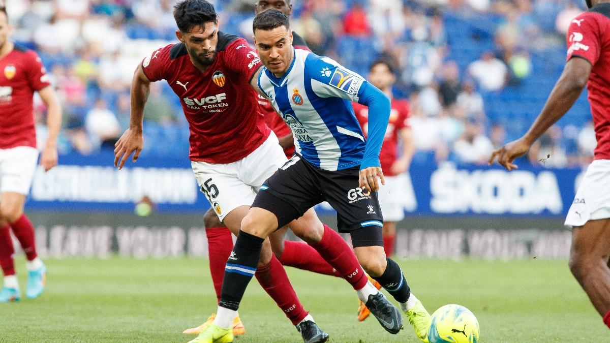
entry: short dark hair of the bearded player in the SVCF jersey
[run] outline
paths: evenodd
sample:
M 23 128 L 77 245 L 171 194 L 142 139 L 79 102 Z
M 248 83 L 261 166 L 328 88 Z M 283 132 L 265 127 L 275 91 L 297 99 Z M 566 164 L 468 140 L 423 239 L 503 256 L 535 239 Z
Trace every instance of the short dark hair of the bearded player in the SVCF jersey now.
M 174 6 L 174 20 L 182 32 L 190 32 L 193 27 L 216 22 L 218 16 L 214 6 L 206 0 L 183 0 Z

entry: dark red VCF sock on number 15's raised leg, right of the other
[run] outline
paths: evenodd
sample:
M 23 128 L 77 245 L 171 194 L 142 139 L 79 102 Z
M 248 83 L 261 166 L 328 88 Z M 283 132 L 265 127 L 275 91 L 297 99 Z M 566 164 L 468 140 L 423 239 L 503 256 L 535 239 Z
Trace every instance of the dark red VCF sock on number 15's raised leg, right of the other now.
M 365 286 L 368 278 L 362 270 L 360 262 L 354 255 L 354 251 L 347 245 L 343 237 L 336 231 L 324 225 L 324 236 L 320 242 L 312 244 L 312 247 L 342 275 L 354 289 L 358 290 Z

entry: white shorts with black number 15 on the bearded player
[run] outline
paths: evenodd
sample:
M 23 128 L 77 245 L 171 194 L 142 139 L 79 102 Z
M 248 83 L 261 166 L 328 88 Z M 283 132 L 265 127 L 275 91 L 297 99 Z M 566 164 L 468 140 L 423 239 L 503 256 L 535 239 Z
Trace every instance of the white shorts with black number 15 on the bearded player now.
M 191 162 L 201 192 L 222 222 L 239 206 L 250 206 L 260 186 L 288 161 L 271 132 L 267 140 L 251 154 L 229 164 Z

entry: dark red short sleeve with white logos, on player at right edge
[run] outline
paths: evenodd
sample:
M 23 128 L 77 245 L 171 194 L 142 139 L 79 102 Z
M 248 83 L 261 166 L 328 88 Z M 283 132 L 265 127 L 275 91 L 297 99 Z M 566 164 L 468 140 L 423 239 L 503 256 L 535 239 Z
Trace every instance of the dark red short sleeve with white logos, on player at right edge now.
M 601 36 L 605 29 L 598 16 L 594 12 L 584 12 L 572 20 L 565 37 L 568 46 L 566 61 L 581 57 L 595 65 L 600 57 Z

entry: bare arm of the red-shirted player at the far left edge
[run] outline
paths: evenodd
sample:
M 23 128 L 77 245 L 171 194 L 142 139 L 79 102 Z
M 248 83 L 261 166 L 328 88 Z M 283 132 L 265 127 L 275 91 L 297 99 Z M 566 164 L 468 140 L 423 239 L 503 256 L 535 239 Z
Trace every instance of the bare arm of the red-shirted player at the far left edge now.
M 52 86 L 42 88 L 38 95 L 46 105 L 46 126 L 49 130 L 49 137 L 40 155 L 40 165 L 49 171 L 57 165 L 57 135 L 62 127 L 62 105 Z

